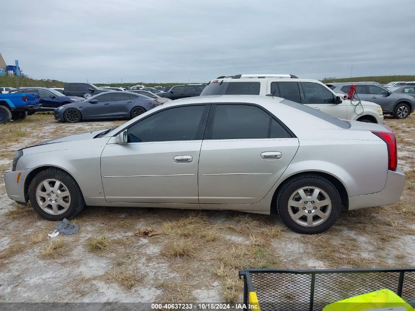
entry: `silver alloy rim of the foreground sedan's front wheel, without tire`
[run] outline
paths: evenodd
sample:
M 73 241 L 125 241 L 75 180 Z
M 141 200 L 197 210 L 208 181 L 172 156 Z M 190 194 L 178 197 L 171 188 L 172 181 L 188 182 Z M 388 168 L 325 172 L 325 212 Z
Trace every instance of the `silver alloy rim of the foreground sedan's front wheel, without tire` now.
M 46 213 L 59 215 L 69 208 L 71 195 L 61 181 L 45 179 L 36 187 L 36 201 Z

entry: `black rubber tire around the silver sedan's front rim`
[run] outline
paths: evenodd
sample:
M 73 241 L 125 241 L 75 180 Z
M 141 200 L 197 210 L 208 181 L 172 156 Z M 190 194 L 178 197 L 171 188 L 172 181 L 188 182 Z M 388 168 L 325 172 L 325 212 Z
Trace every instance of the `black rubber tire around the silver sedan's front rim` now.
M 37 186 L 46 179 L 56 179 L 63 183 L 69 191 L 71 196 L 71 201 L 69 204 L 69 208 L 62 214 L 53 215 L 45 212 L 38 204 L 36 200 L 36 188 Z M 67 172 L 59 169 L 47 169 L 43 170 L 38 173 L 32 181 L 30 182 L 29 189 L 28 189 L 29 200 L 31 206 L 38 213 L 41 217 L 47 220 L 62 220 L 64 218 L 72 218 L 77 216 L 79 213 L 82 212 L 83 208 L 85 207 L 85 201 L 83 200 L 83 195 L 81 189 L 79 188 L 75 179 L 69 175 Z

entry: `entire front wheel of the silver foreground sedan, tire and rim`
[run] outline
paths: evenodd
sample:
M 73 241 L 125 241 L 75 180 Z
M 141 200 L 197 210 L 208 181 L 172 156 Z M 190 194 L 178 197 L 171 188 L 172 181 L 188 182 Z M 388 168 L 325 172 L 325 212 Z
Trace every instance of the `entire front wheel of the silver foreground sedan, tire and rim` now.
M 28 195 L 36 213 L 48 220 L 74 217 L 85 206 L 75 179 L 59 169 L 38 173 L 30 183 Z

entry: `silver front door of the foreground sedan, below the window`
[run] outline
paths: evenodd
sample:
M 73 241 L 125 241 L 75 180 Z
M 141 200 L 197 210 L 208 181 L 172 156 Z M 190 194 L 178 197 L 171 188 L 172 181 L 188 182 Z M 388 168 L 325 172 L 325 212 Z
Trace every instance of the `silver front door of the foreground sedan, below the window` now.
M 197 203 L 201 144 L 201 141 L 107 144 L 101 155 L 105 199 L 108 202 Z

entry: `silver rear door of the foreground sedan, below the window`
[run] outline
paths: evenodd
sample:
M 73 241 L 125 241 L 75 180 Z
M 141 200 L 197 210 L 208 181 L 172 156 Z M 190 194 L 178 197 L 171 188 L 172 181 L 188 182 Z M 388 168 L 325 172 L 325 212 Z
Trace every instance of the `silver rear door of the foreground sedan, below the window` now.
M 298 146 L 296 138 L 203 141 L 199 159 L 199 203 L 252 204 L 260 201 L 287 168 Z M 276 157 L 264 159 L 270 156 L 264 152 L 276 153 Z

